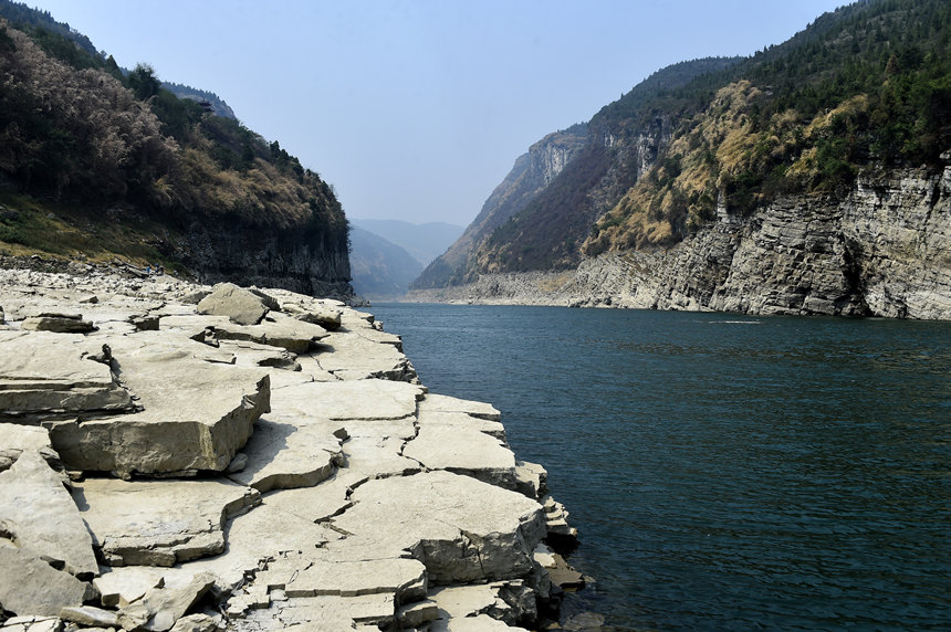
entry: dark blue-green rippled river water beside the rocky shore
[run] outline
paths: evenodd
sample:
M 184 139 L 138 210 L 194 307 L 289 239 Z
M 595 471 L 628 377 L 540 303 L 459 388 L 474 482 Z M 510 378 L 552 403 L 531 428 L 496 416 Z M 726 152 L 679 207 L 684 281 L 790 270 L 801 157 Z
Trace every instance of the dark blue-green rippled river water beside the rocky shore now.
M 372 309 L 544 464 L 604 630 L 951 630 L 951 324 Z

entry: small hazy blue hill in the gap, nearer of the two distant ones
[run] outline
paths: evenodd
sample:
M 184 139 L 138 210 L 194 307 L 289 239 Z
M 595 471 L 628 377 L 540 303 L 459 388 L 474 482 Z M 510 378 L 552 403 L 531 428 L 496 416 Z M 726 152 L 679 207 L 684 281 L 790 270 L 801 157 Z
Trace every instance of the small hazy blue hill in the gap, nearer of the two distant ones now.
M 422 264 L 400 246 L 357 225 L 351 228 L 351 283 L 359 296 L 397 299 L 421 271 Z

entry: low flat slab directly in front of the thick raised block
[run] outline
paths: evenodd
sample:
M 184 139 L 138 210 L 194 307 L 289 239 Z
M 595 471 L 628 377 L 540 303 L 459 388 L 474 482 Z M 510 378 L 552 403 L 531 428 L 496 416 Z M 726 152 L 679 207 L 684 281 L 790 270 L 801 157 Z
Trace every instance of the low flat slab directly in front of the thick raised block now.
M 73 497 L 111 566 L 171 566 L 224 550 L 228 516 L 260 503 L 224 481 L 88 478 Z

